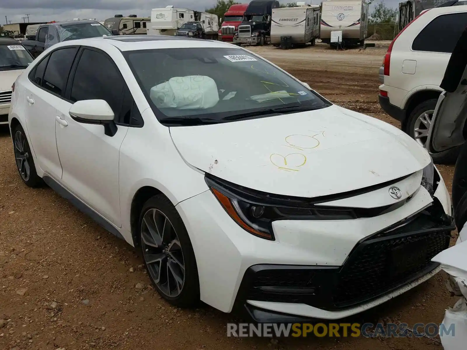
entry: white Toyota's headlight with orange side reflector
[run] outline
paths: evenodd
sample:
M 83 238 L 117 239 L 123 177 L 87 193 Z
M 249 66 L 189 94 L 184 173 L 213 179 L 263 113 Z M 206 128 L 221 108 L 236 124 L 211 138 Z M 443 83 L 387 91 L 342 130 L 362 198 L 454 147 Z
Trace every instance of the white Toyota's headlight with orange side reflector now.
M 206 175 L 205 180 L 222 207 L 244 230 L 274 240 L 276 220 L 345 220 L 356 215 L 350 208 L 322 209 L 311 199 L 255 191 Z

